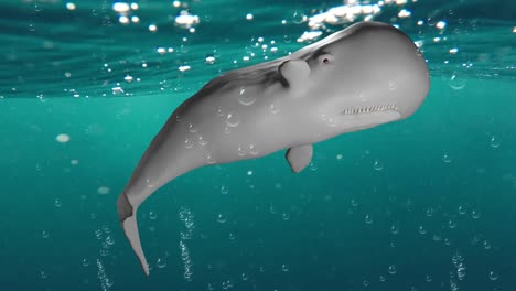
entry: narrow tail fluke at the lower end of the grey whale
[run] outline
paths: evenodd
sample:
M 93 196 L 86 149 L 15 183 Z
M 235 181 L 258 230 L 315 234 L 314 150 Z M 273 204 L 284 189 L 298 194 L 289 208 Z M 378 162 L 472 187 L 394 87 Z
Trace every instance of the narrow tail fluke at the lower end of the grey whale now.
M 122 193 L 117 201 L 118 218 L 126 234 L 132 250 L 140 260 L 143 272 L 149 276 L 149 265 L 147 263 L 146 254 L 141 247 L 140 234 L 138 231 L 137 208 L 131 205 L 127 198 L 127 194 Z

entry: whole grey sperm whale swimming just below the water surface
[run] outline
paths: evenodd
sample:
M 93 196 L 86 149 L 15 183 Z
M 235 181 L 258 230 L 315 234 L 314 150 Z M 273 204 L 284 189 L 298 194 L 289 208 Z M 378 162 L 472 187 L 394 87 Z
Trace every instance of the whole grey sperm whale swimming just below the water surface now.
M 273 61 L 227 72 L 169 117 L 117 200 L 143 272 L 137 211 L 155 191 L 201 166 L 286 151 L 294 173 L 313 144 L 411 116 L 430 88 L 427 62 L 399 29 L 358 22 Z

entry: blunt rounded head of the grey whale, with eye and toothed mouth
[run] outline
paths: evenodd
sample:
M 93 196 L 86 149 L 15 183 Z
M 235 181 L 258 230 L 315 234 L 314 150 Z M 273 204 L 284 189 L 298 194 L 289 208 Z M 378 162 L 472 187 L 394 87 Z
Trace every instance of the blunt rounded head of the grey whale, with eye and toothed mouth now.
M 291 54 L 290 60 L 301 62 L 290 71 L 305 76 L 298 77 L 303 87 L 299 98 L 311 104 L 313 118 L 335 128 L 334 134 L 409 117 L 430 86 L 427 63 L 415 43 L 379 22 L 352 25 Z M 288 68 L 283 75 L 289 75 Z

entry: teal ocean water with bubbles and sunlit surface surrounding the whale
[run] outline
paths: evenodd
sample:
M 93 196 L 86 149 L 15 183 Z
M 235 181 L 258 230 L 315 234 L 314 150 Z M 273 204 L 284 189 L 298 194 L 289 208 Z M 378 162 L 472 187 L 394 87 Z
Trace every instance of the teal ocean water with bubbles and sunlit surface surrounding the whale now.
M 300 174 L 278 152 L 174 180 L 139 209 L 144 277 L 116 200 L 171 112 L 364 19 L 422 51 L 422 107 Z M 515 1 L 2 0 L 0 40 L 0 290 L 515 288 Z

